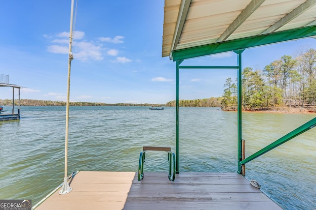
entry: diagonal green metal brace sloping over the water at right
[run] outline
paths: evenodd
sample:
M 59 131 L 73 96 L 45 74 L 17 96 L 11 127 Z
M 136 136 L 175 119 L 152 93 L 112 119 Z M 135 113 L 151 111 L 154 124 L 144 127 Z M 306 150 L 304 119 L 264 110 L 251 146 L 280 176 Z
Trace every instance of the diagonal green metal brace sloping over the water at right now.
M 240 161 L 239 164 L 246 164 L 248 162 L 250 162 L 251 160 L 263 155 L 264 153 L 275 149 L 276 147 L 282 145 L 283 143 L 293 139 L 294 137 L 301 135 L 302 133 L 304 133 L 305 131 L 308 131 L 312 128 L 316 127 L 316 118 L 306 122 L 305 124 L 301 125 L 300 127 L 296 128 L 295 130 L 289 132 L 288 134 L 286 134 L 285 136 L 279 138 L 278 140 L 276 140 L 275 142 L 271 143 L 270 145 L 268 145 L 267 147 L 257 151 L 256 153 L 250 155 L 249 157 L 245 158 L 244 160 Z

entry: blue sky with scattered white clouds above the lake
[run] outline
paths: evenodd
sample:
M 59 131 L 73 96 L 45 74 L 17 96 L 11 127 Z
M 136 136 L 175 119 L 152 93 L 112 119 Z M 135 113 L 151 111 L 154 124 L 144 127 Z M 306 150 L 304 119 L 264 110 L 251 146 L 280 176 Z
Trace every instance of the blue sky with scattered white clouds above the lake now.
M 75 0 L 76 2 L 76 0 Z M 70 101 L 164 104 L 176 98 L 176 64 L 161 57 L 164 0 L 79 0 Z M 66 101 L 71 0 L 0 0 L 0 74 L 22 99 Z M 306 38 L 246 49 L 242 68 L 262 70 L 284 55 L 314 48 Z M 237 65 L 233 52 L 183 65 Z M 180 99 L 223 95 L 237 70 L 180 69 Z M 18 97 L 15 90 L 15 98 Z M 0 99 L 12 88 L 1 87 Z

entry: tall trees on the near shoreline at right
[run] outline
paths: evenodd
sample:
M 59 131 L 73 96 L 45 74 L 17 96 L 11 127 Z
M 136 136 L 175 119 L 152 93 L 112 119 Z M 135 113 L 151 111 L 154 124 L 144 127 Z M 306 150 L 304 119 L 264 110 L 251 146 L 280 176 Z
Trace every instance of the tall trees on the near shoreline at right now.
M 237 108 L 237 79 L 224 84 L 224 110 Z M 245 67 L 241 76 L 243 109 L 279 107 L 316 107 L 316 50 L 298 53 L 296 58 L 282 56 L 262 70 Z

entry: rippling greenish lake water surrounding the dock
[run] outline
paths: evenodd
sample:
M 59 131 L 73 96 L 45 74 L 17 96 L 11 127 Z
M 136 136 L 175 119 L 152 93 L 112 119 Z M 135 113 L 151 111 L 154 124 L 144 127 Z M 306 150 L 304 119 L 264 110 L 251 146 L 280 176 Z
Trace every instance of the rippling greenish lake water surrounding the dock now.
M 0 199 L 35 205 L 63 181 L 65 113 L 65 107 L 21 107 L 20 121 L 0 122 Z M 246 157 L 315 117 L 243 113 Z M 180 173 L 237 172 L 236 112 L 180 107 L 179 118 Z M 68 174 L 136 172 L 143 146 L 175 151 L 174 107 L 70 107 Z M 167 171 L 164 154 L 147 157 L 145 171 Z M 283 209 L 316 209 L 316 128 L 247 163 L 246 178 Z

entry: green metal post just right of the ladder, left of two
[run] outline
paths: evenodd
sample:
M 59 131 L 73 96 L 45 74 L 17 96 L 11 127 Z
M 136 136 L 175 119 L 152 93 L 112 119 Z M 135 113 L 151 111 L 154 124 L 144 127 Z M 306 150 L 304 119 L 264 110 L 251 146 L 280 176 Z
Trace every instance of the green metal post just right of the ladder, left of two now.
M 179 174 L 179 65 L 176 61 L 176 174 Z

